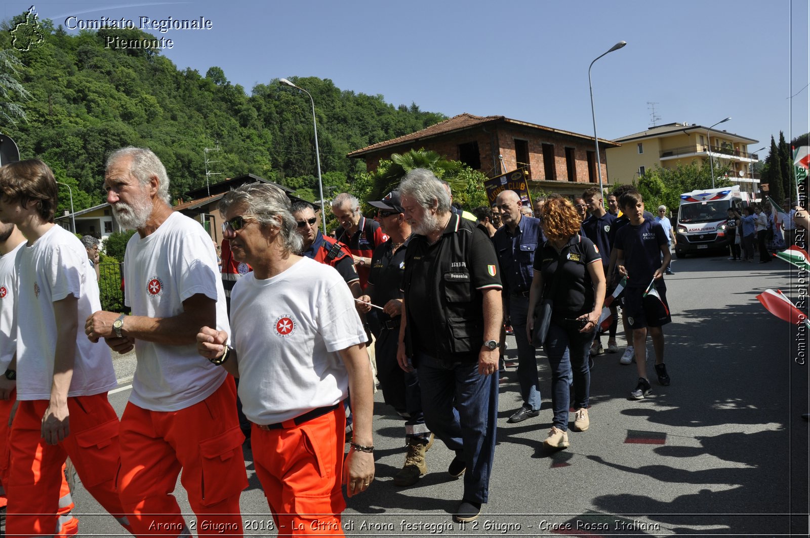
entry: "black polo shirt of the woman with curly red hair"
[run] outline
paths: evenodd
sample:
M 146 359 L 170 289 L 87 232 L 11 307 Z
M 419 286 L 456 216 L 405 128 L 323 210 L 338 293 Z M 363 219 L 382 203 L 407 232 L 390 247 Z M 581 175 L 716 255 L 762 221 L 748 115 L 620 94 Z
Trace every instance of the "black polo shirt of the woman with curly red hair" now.
M 560 260 L 563 265 L 555 277 Z M 544 297 L 551 294 L 555 318 L 578 318 L 593 310 L 594 283 L 587 266 L 596 262 L 602 263 L 602 257 L 593 241 L 579 235 L 571 237 L 559 253 L 549 242 L 537 248 L 535 271 L 542 271 Z

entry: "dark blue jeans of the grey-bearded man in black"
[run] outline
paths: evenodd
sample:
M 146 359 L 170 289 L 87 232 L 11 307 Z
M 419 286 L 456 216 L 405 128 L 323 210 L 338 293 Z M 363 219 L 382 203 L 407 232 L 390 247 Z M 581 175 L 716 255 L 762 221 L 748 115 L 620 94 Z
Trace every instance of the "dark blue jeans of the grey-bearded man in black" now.
M 416 353 L 422 411 L 430 431 L 467 464 L 464 499 L 487 502 L 495 455 L 498 372 L 478 373 L 478 363 L 448 364 Z

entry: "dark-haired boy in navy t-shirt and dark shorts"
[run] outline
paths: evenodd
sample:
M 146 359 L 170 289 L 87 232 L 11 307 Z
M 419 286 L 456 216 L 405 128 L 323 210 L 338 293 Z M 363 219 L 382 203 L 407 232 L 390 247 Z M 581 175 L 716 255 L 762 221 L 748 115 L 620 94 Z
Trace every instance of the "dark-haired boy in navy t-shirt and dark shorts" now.
M 650 382 L 647 380 L 646 367 L 648 332 L 655 352 L 655 373 L 658 374 L 661 385 L 669 385 L 667 367 L 663 363 L 664 339 L 661 327 L 672 321 L 667 305 L 667 287 L 663 281 L 663 274 L 669 265 L 671 254 L 667 247 L 667 234 L 664 233 L 661 224 L 644 218 L 644 202 L 641 194 L 635 190 L 622 194 L 619 207 L 630 220 L 630 224 L 616 233 L 614 244 L 618 270 L 627 276 L 625 311 L 629 326 L 633 330 L 633 347 L 638 369 L 638 384 L 630 393 L 630 397 L 643 399 L 652 392 Z M 654 285 L 650 286 L 653 280 Z

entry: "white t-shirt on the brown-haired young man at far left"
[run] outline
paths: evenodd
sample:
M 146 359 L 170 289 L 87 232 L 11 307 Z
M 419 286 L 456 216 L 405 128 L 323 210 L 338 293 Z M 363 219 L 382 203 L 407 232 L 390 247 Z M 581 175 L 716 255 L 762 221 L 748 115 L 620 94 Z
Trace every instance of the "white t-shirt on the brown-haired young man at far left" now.
M 93 344 L 84 321 L 101 310 L 96 271 L 90 267 L 82 241 L 53 225 L 32 246 L 17 251 L 17 398 L 49 399 L 53 384 L 57 327 L 53 303 L 77 297 L 79 326 L 73 378 L 68 396 L 88 396 L 117 386 L 109 348 Z

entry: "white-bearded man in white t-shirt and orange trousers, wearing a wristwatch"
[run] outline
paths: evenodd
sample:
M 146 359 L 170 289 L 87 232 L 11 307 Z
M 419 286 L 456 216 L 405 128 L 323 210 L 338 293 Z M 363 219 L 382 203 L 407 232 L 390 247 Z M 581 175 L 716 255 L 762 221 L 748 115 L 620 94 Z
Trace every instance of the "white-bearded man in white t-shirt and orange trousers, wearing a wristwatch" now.
M 92 341 L 117 352 L 133 345 L 138 365 L 121 419 L 118 489 L 137 536 L 190 536 L 172 492 L 181 483 L 198 516 L 198 536 L 241 536 L 247 486 L 236 387 L 199 357 L 199 327 L 226 334 L 228 315 L 211 237 L 168 205 L 168 176 L 146 148 L 125 147 L 107 160 L 104 188 L 126 246 L 124 300 L 132 315 L 87 318 Z

